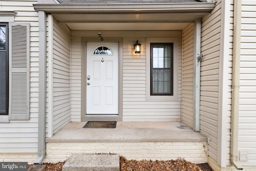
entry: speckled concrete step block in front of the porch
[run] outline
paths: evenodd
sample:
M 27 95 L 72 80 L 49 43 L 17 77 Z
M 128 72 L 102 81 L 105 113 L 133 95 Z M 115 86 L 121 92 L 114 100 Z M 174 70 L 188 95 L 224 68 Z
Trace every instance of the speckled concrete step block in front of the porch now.
M 119 171 L 118 154 L 72 154 L 62 171 Z

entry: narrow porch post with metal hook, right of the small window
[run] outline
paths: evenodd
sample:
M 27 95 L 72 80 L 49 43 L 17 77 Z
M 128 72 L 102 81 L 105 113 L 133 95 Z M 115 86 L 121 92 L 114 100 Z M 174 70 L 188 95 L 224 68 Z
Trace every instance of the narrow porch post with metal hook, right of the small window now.
M 193 130 L 200 131 L 200 58 L 201 18 L 194 21 L 194 62 L 193 62 Z M 199 60 L 198 60 L 199 59 Z

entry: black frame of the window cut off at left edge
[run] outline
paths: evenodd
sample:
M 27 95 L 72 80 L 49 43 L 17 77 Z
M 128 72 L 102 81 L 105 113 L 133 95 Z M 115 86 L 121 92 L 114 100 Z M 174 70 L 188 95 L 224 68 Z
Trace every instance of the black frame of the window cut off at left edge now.
M 5 26 L 6 27 L 6 106 L 5 106 L 5 112 L 0 111 L 0 115 L 8 115 L 8 110 L 9 110 L 9 27 L 8 23 L 0 23 L 0 26 Z M 3 51 L 3 50 L 0 50 Z

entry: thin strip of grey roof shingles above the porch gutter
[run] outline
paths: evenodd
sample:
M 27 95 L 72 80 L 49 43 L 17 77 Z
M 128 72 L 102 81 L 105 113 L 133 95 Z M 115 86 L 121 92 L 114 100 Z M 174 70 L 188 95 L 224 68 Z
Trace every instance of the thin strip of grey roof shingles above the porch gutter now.
M 60 4 L 154 4 L 154 3 L 193 3 L 201 0 L 58 0 Z

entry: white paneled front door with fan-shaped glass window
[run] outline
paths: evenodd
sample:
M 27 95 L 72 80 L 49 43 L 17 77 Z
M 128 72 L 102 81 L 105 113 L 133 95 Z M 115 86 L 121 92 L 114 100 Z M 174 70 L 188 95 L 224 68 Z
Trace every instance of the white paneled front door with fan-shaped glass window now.
M 118 42 L 87 42 L 86 114 L 118 114 Z

